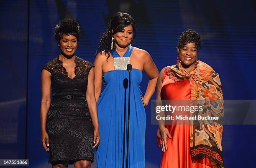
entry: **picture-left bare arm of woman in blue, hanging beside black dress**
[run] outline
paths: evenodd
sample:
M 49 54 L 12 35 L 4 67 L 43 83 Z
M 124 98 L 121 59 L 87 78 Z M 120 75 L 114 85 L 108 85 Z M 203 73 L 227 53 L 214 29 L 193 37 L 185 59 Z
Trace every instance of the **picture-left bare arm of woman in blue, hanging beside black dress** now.
M 95 85 L 95 99 L 96 102 L 98 102 L 98 99 L 100 97 L 101 93 L 101 87 L 102 87 L 102 54 L 98 53 L 95 60 L 94 60 L 94 73 L 95 73 L 95 80 L 94 80 L 94 85 Z

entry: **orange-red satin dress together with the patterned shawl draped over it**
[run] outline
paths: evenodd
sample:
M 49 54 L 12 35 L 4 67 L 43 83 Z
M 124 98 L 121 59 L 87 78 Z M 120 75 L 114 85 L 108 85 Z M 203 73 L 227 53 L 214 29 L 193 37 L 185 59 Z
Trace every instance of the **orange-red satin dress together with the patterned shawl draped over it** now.
M 223 100 L 218 74 L 201 61 L 191 73 L 180 64 L 166 67 L 163 81 L 161 97 L 165 100 Z M 223 118 L 222 103 L 218 103 L 217 110 L 211 110 L 213 115 Z M 161 168 L 224 167 L 223 125 L 210 121 L 201 125 L 188 122 L 165 126 L 172 138 L 167 138 L 168 150 L 162 153 Z

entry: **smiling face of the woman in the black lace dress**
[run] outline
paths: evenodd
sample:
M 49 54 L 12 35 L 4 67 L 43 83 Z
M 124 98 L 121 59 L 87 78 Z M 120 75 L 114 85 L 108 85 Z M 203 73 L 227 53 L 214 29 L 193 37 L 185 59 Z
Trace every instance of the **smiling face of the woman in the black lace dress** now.
M 77 38 L 74 35 L 63 34 L 59 45 L 62 53 L 67 56 L 72 56 L 77 50 Z

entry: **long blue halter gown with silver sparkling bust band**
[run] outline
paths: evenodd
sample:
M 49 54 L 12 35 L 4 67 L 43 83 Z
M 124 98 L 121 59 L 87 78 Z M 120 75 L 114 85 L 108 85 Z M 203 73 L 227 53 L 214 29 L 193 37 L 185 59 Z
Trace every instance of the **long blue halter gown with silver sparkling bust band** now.
M 133 51 L 126 51 L 123 57 L 130 57 Z M 120 58 L 114 50 L 112 56 Z M 127 58 L 129 59 L 129 58 Z M 122 168 L 123 164 L 123 123 L 124 123 L 124 96 L 123 80 L 129 79 L 128 71 L 116 70 L 119 65 L 115 63 L 115 70 L 103 75 L 104 90 L 97 103 L 100 145 L 97 148 L 97 168 Z M 126 67 L 126 65 L 125 65 Z M 141 101 L 141 70 L 133 68 L 131 71 L 131 107 L 129 128 L 129 168 L 145 167 L 145 130 L 146 114 Z M 126 121 L 128 115 L 128 88 L 126 94 Z M 127 134 L 127 130 L 125 129 Z M 126 139 L 125 139 L 126 158 Z

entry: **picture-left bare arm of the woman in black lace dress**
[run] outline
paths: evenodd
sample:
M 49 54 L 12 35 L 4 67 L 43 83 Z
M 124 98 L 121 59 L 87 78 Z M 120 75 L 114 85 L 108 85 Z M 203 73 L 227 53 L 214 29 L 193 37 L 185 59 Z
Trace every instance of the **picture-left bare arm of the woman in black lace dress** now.
M 51 73 L 49 73 L 47 70 L 42 70 L 41 73 L 41 93 L 41 143 L 44 149 L 48 151 L 49 149 L 46 148 L 45 142 L 49 146 L 49 137 L 46 133 L 46 119 L 51 104 Z

